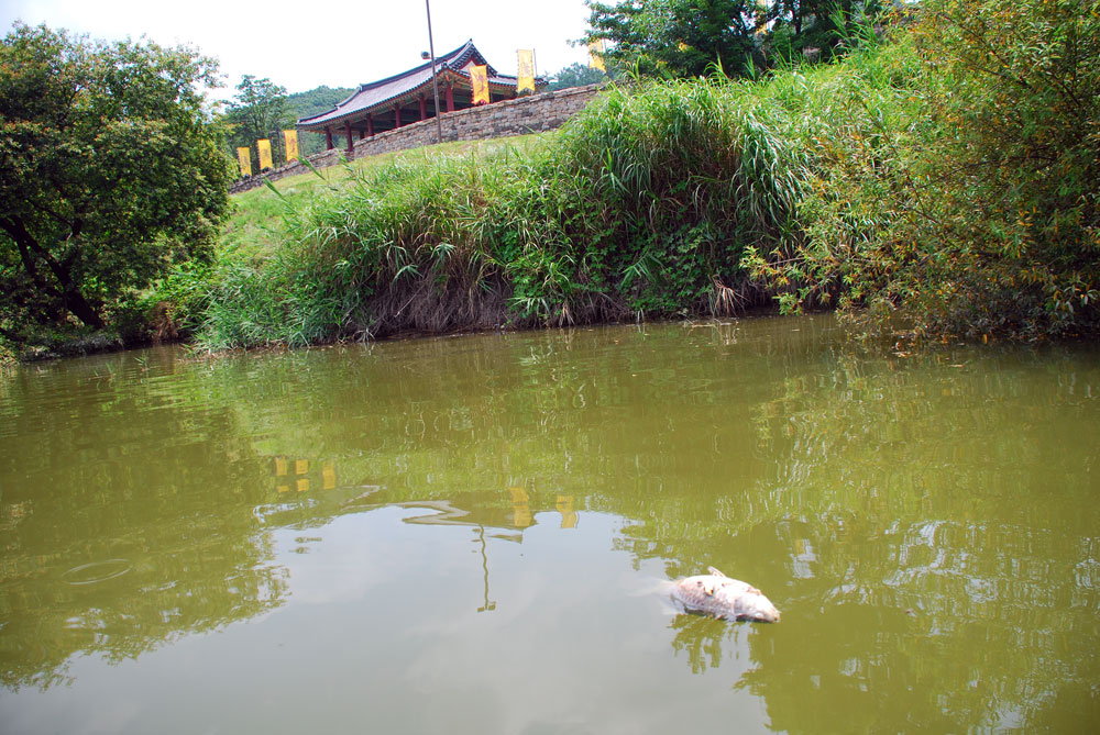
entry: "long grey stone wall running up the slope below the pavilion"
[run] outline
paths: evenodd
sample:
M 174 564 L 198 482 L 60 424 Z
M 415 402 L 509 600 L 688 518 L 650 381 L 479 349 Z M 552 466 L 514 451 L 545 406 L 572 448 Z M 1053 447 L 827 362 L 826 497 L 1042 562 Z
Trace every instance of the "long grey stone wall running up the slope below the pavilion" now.
M 444 112 L 440 116 L 443 141 L 480 141 L 490 137 L 527 135 L 560 127 L 566 120 L 587 107 L 602 85 L 572 87 L 553 92 L 541 92 L 515 100 L 504 100 L 479 108 Z M 342 159 L 354 160 L 380 153 L 404 151 L 431 145 L 437 142 L 436 119 L 386 131 L 362 141 L 355 141 L 352 151 L 337 147 L 309 157 L 314 168 L 326 168 Z M 277 181 L 287 176 L 306 174 L 309 169 L 295 160 L 278 168 L 235 181 L 229 193 L 235 194 L 263 186 L 264 179 Z

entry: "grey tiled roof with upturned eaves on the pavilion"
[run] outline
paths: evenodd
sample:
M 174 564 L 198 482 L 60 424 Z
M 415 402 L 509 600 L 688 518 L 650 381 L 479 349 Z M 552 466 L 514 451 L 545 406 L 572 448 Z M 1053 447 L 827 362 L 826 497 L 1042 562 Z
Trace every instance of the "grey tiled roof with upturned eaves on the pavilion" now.
M 474 46 L 472 40 L 468 41 L 449 54 L 443 54 L 442 56 L 437 57 L 436 69 L 441 79 L 447 79 L 448 77 L 451 77 L 452 79 L 460 77 L 469 80 L 470 73 L 465 71 L 462 67 L 466 66 L 471 62 L 488 66 L 488 62 L 486 62 L 485 57 L 481 55 L 481 52 L 477 51 L 476 46 Z M 517 85 L 516 77 L 499 75 L 492 66 L 488 66 L 488 81 L 491 87 L 496 87 L 498 89 L 501 87 L 515 89 Z M 345 99 L 343 102 L 340 102 L 328 112 L 300 119 L 298 121 L 298 127 L 319 130 L 326 125 L 331 125 L 332 123 L 342 122 L 349 118 L 362 115 L 369 110 L 388 107 L 388 104 L 394 100 L 405 94 L 416 92 L 420 88 L 430 86 L 431 62 L 428 62 L 393 77 L 360 85 L 359 89 L 355 90 L 351 97 Z

